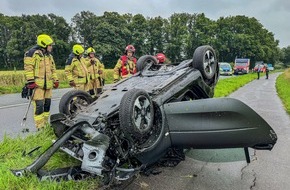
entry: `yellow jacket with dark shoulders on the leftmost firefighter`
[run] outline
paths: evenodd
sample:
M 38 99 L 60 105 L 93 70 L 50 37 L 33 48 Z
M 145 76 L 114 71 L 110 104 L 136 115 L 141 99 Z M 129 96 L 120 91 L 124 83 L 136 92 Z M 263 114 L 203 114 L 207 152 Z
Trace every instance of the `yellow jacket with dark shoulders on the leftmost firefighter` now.
M 39 88 L 51 89 L 58 80 L 53 56 L 43 54 L 39 46 L 25 52 L 24 71 L 26 80 L 34 81 Z

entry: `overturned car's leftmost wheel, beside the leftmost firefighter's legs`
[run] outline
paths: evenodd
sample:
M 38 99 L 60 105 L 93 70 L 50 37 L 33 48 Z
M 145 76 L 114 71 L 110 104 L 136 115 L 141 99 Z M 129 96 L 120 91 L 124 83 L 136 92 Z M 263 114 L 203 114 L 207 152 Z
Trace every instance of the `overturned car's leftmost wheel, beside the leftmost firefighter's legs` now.
M 93 98 L 89 93 L 82 90 L 71 90 L 61 97 L 59 102 L 59 112 L 74 116 L 92 102 Z

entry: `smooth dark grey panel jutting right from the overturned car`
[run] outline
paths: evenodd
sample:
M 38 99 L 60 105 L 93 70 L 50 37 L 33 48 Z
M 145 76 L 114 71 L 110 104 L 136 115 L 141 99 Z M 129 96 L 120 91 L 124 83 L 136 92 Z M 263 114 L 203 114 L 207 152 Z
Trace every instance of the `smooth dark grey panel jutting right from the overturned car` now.
M 172 144 L 191 148 L 271 150 L 277 136 L 250 107 L 231 98 L 164 105 Z

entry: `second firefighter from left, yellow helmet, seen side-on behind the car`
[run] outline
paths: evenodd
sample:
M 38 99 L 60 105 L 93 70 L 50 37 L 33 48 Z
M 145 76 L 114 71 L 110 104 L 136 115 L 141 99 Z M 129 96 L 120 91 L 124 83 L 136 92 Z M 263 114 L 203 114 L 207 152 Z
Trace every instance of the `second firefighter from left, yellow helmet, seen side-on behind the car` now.
M 65 74 L 69 85 L 75 89 L 89 91 L 90 75 L 82 57 L 84 48 L 80 44 L 73 46 L 73 52 L 69 55 L 65 65 Z

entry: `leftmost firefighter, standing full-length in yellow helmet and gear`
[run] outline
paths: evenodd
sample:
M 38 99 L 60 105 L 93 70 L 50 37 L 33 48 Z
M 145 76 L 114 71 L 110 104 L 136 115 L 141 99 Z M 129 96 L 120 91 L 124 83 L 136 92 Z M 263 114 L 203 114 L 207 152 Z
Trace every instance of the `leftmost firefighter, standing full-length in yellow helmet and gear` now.
M 34 122 L 37 129 L 46 126 L 50 114 L 52 88 L 58 88 L 55 62 L 52 52 L 53 40 L 47 34 L 37 36 L 37 45 L 24 54 L 24 70 L 27 87 L 34 89 Z

